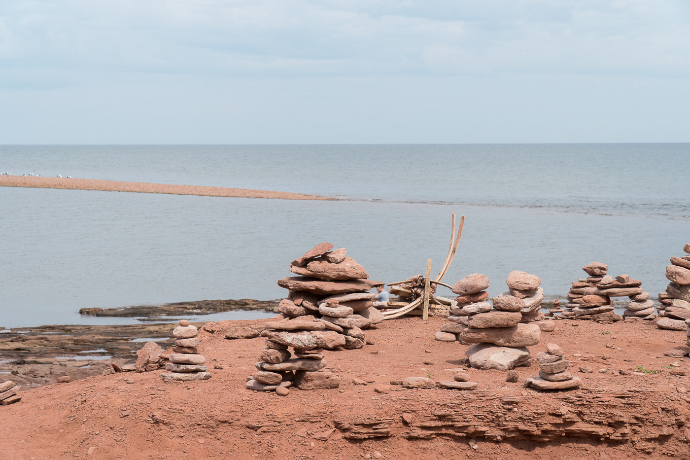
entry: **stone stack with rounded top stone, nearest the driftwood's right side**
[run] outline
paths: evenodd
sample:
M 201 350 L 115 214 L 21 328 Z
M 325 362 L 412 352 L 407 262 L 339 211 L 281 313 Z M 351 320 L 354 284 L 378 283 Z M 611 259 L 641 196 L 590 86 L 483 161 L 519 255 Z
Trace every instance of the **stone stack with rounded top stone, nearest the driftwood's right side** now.
M 465 276 L 453 285 L 453 293 L 458 294 L 455 300 L 457 307 L 451 308 L 448 323 L 441 326 L 441 330 L 434 334 L 434 338 L 440 342 L 461 341 L 460 334 L 469 326 L 471 312 L 488 312 L 491 305 L 482 302 L 489 296 L 486 289 L 489 288 L 489 277 L 473 273 Z

